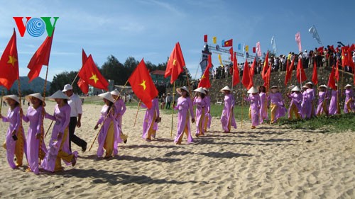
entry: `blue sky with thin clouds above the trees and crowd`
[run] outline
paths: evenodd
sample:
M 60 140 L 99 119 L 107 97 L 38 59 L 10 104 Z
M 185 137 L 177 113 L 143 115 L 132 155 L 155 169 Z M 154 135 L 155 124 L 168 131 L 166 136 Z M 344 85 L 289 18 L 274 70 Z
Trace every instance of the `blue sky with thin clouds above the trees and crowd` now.
M 355 1 L 3 1 L 0 7 L 0 54 L 16 27 L 13 16 L 58 16 L 48 79 L 82 66 L 82 48 L 101 66 L 109 55 L 124 63 L 133 56 L 158 64 L 165 62 L 175 42 L 180 42 L 187 69 L 195 77 L 201 59 L 203 35 L 249 45 L 261 42 L 271 50 L 274 35 L 279 54 L 297 52 L 295 33 L 300 31 L 302 50 L 320 45 L 308 29 L 315 25 L 324 45 L 355 42 Z M 20 75 L 46 34 L 18 36 Z M 228 59 L 228 55 L 222 55 Z M 218 65 L 217 55 L 212 62 Z M 243 58 L 239 57 L 239 62 Z M 200 69 L 197 78 L 200 77 Z M 44 78 L 43 69 L 40 76 Z

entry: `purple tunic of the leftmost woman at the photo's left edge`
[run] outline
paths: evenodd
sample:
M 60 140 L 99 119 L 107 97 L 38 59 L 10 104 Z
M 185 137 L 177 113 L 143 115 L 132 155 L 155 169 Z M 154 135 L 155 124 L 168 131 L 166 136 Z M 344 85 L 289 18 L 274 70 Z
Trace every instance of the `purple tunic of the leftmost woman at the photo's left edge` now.
M 14 141 L 12 138 L 12 132 L 13 130 L 16 131 L 16 135 L 18 134 L 18 128 L 20 127 L 20 108 L 16 106 L 16 108 L 9 108 L 7 111 L 7 116 L 2 117 L 2 121 L 4 123 L 10 123 L 9 128 L 7 129 L 6 132 L 6 157 L 7 161 L 12 169 L 16 169 L 16 164 L 13 162 L 13 157 L 15 155 L 15 147 L 16 147 L 16 142 L 19 141 Z M 25 133 L 23 131 L 23 127 L 21 127 L 21 133 L 22 137 L 24 140 L 23 143 L 23 152 L 26 154 L 26 140 L 25 140 Z M 27 154 L 26 154 L 27 155 Z

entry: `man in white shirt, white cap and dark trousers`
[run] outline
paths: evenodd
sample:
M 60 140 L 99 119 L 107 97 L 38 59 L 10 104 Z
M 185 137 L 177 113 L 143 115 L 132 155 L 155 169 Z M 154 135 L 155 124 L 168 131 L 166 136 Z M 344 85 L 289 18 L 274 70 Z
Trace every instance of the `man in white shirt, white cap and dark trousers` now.
M 75 127 L 80 128 L 82 125 L 82 101 L 80 100 L 79 96 L 75 95 L 75 93 L 72 91 L 72 85 L 66 84 L 62 91 L 69 98 L 67 102 L 71 108 L 69 123 L 69 149 L 72 150 L 72 142 L 74 142 L 79 147 L 82 147 L 82 152 L 85 152 L 87 150 L 87 142 L 74 134 Z

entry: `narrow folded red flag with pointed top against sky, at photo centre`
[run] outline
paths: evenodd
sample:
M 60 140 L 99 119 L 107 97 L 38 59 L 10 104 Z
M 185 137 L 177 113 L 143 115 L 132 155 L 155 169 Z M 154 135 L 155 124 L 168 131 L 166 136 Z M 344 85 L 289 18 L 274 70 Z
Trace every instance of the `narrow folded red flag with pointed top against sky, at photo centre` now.
M 175 44 L 173 52 L 171 52 L 168 64 L 166 64 L 165 75 L 164 77 L 167 78 L 171 75 L 170 84 L 173 84 L 180 73 L 184 71 L 185 67 L 185 60 L 184 56 L 182 55 L 180 43 L 177 42 Z

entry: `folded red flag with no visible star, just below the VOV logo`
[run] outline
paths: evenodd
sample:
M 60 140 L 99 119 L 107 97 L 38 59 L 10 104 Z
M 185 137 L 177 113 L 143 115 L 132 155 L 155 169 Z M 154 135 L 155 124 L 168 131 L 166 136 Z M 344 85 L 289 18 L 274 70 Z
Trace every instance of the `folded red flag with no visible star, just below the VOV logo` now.
M 30 79 L 30 82 L 40 75 L 40 70 L 42 69 L 43 65 L 48 66 L 49 64 L 53 35 L 54 30 L 52 36 L 47 36 L 47 38 L 45 38 L 45 41 L 42 43 L 42 45 L 40 45 L 40 47 L 38 47 L 38 50 L 35 52 L 30 62 L 28 63 L 27 67 L 30 69 L 30 72 L 28 72 L 27 76 L 28 79 Z

